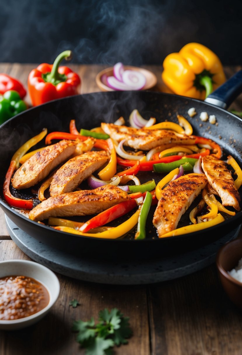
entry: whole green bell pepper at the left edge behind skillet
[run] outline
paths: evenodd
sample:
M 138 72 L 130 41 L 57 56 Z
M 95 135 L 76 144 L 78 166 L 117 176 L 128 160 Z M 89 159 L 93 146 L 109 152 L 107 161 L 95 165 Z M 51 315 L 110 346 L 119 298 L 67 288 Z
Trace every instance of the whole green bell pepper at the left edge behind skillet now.
M 0 95 L 0 124 L 26 109 L 27 105 L 21 100 L 17 91 L 6 91 L 3 95 Z

